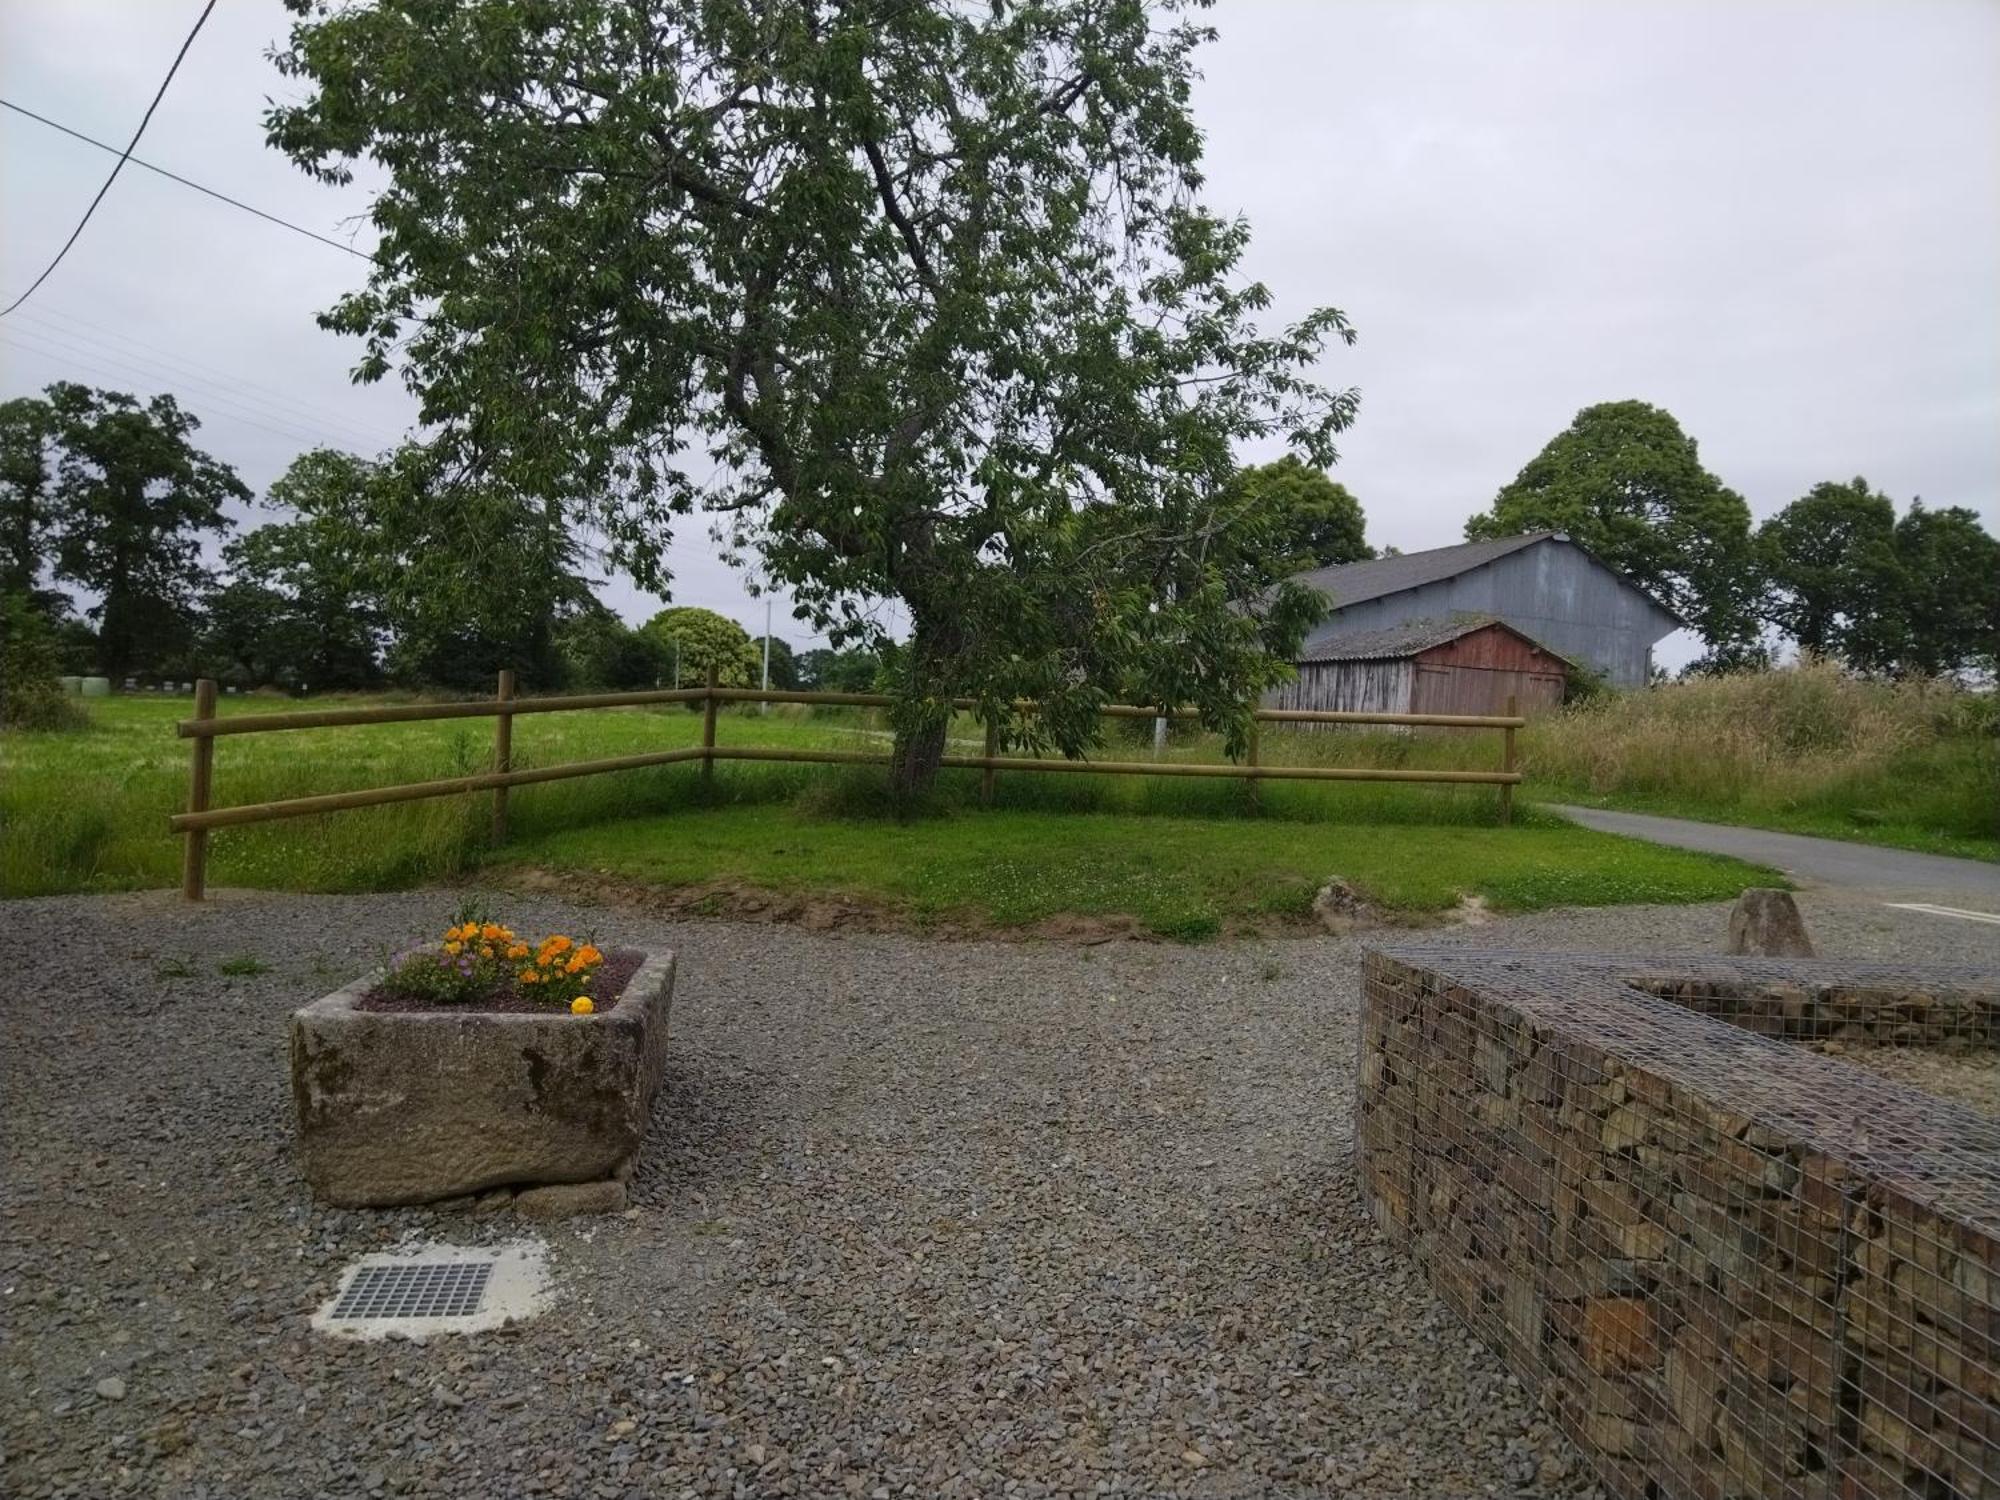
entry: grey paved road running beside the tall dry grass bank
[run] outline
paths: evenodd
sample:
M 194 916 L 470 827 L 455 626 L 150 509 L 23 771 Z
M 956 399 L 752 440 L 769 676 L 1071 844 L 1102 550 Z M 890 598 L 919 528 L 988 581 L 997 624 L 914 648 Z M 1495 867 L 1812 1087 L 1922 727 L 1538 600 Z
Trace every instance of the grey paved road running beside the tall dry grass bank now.
M 1646 812 L 1612 812 L 1608 808 L 1568 808 L 1548 804 L 1550 812 L 1600 828 L 1606 834 L 1628 834 L 1654 844 L 1734 854 L 1738 860 L 1770 864 L 1802 884 L 1866 890 L 1876 896 L 1942 896 L 1952 894 L 1974 910 L 2000 912 L 2000 864 L 1954 860 L 1944 854 L 1916 854 L 1874 844 L 1848 844 L 1838 838 L 1808 838 L 1804 834 L 1774 834 L 1766 828 L 1734 828 L 1686 818 L 1654 818 Z M 1966 902 L 1964 898 L 1972 898 Z

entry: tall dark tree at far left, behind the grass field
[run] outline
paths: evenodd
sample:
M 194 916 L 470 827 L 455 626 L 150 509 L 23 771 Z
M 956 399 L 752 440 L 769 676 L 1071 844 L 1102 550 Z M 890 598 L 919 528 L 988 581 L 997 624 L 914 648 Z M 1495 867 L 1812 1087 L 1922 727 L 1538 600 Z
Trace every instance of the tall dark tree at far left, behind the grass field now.
M 236 470 L 194 446 L 200 422 L 172 396 L 48 388 L 60 512 L 56 572 L 98 596 L 98 662 L 124 676 L 142 652 L 186 640 L 208 582 L 202 542 L 248 500 Z

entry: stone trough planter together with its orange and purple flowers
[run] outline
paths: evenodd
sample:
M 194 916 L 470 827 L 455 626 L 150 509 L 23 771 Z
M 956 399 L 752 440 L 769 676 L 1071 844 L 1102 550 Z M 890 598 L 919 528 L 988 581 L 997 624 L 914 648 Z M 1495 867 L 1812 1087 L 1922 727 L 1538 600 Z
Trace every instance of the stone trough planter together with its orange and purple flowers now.
M 300 1168 L 346 1208 L 622 1182 L 666 1064 L 672 990 L 672 954 L 454 924 L 294 1012 Z

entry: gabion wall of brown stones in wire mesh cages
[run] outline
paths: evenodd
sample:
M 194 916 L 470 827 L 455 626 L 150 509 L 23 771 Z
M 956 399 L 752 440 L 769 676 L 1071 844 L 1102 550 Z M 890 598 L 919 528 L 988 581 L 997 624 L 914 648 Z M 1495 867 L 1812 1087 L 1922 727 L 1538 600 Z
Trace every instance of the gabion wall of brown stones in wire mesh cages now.
M 2000 1496 L 2000 1124 L 1776 1040 L 1996 1008 L 1974 970 L 1370 954 L 1362 1188 L 1614 1496 Z

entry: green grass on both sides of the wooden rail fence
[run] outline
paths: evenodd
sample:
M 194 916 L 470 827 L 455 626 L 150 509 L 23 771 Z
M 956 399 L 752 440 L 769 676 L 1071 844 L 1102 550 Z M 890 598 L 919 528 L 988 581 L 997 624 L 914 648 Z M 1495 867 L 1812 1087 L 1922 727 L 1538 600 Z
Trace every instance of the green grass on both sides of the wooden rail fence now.
M 284 700 L 226 698 L 224 714 Z M 166 814 L 186 796 L 184 700 L 112 698 L 76 734 L 0 736 L 0 894 L 172 886 L 180 842 Z M 970 728 L 968 728 L 970 734 Z M 432 780 L 490 764 L 490 720 L 438 720 L 238 736 L 216 742 L 216 804 Z M 516 720 L 516 764 L 696 744 L 684 708 Z M 722 744 L 884 750 L 866 716 L 724 714 Z M 968 746 L 976 748 L 976 746 Z M 1112 758 L 1144 758 L 1112 744 Z M 1176 758 L 1214 756 L 1192 736 Z M 1498 736 L 1274 734 L 1264 758 L 1342 764 L 1498 764 Z M 1704 900 L 1768 872 L 1592 834 L 1522 810 L 1496 826 L 1490 786 L 1298 784 L 1002 774 L 980 808 L 976 774 L 948 772 L 928 814 L 888 816 L 872 768 L 662 766 L 512 794 L 514 838 L 486 846 L 486 798 L 438 798 L 218 830 L 210 884 L 376 890 L 488 864 L 608 872 L 660 884 L 748 884 L 882 904 L 914 920 L 998 926 L 1060 914 L 1132 916 L 1200 936 L 1306 910 L 1342 876 L 1384 906 L 1430 912 L 1460 896 L 1496 908 Z

